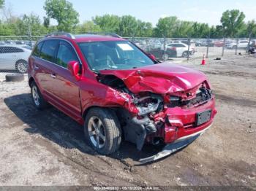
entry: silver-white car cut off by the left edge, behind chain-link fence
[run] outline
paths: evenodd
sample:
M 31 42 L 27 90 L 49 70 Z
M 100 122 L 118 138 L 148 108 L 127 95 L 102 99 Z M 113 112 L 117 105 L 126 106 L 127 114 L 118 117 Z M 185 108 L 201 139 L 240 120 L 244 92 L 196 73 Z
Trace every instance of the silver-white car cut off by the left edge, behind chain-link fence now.
M 26 73 L 31 47 L 27 45 L 1 45 L 0 46 L 0 70 L 15 70 Z

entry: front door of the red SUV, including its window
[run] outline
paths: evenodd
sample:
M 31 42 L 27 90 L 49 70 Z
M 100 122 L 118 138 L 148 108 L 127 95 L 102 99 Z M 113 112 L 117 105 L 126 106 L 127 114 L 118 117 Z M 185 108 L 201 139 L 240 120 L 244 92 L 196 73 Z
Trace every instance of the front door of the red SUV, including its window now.
M 69 61 L 80 62 L 72 45 L 61 40 L 56 52 L 55 64 L 51 69 L 50 93 L 54 96 L 55 105 L 59 109 L 79 120 L 81 116 L 79 87 L 75 77 L 67 69 Z

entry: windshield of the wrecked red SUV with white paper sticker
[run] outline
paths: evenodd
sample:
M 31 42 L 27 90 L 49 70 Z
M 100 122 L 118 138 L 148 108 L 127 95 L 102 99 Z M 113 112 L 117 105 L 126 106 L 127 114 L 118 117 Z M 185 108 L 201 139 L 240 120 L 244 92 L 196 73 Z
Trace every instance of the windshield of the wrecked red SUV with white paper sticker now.
M 127 41 L 82 42 L 79 46 L 93 71 L 136 69 L 154 64 L 138 47 Z

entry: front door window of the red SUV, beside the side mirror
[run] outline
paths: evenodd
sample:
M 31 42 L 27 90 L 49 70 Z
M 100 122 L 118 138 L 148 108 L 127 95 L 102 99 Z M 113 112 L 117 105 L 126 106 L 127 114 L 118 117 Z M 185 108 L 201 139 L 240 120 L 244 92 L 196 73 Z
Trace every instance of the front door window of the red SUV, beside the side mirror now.
M 61 41 L 59 44 L 56 63 L 59 66 L 67 68 L 67 63 L 70 61 L 78 61 L 78 56 L 75 54 L 75 50 L 69 43 Z

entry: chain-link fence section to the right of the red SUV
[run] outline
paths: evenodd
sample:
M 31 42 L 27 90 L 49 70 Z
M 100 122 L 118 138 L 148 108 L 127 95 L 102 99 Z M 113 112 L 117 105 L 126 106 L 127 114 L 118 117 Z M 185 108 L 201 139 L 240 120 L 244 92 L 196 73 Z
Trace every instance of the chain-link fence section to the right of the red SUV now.
M 169 39 L 127 38 L 160 61 L 244 55 L 249 47 L 255 47 L 256 39 Z

